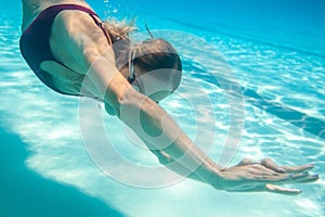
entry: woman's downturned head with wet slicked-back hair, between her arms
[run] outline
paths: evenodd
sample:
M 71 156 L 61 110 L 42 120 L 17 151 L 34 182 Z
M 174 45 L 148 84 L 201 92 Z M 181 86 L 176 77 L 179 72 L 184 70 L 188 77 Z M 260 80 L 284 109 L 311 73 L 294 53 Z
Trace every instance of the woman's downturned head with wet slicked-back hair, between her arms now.
M 170 95 L 182 78 L 182 62 L 164 39 L 147 39 L 129 53 L 128 80 L 141 93 L 159 102 Z

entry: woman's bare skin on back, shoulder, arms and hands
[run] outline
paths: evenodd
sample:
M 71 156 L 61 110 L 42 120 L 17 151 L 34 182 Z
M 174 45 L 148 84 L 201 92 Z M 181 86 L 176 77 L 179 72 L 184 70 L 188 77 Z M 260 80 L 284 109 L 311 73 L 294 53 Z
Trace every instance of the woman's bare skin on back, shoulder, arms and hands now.
M 23 0 L 22 29 L 25 30 L 46 8 L 64 3 L 90 8 L 82 0 Z M 318 179 L 317 175 L 308 173 L 313 168 L 312 164 L 278 166 L 266 158 L 261 162 L 243 159 L 230 168 L 217 165 L 153 101 L 155 99 L 152 100 L 131 87 L 126 79 L 128 72 L 116 68 L 114 51 L 102 29 L 84 12 L 61 12 L 53 22 L 50 46 L 54 58 L 72 69 L 64 68 L 55 62 L 41 63 L 41 68 L 53 77 L 61 90 L 79 93 L 82 80 L 87 79 L 84 88 L 89 95 L 110 104 L 121 122 L 127 124 L 150 149 L 155 148 L 151 151 L 159 162 L 180 175 L 190 174 L 188 178 L 207 183 L 217 190 L 265 191 L 282 194 L 298 194 L 301 191 L 281 188 L 277 184 L 306 183 Z M 140 72 L 139 68 L 136 71 Z M 128 113 L 121 114 L 121 110 Z M 138 126 L 132 115 L 139 112 L 142 126 Z M 152 137 L 160 139 L 155 140 Z M 166 146 L 167 144 L 169 145 Z M 193 165 L 199 166 L 193 171 L 191 169 Z

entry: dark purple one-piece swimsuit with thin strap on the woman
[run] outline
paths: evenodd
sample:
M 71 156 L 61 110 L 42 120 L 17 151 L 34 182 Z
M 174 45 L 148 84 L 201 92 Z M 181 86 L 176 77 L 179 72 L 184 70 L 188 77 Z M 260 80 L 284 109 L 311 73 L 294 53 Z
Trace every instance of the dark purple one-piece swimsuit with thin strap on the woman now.
M 62 94 L 70 94 L 58 90 L 53 85 L 51 76 L 40 69 L 40 64 L 43 61 L 55 61 L 56 63 L 66 67 L 63 63 L 54 59 L 50 48 L 50 35 L 53 21 L 55 16 L 64 10 L 78 10 L 89 13 L 95 24 L 102 28 L 109 43 L 109 36 L 102 27 L 102 23 L 94 17 L 98 15 L 92 10 L 76 4 L 57 4 L 47 8 L 35 18 L 29 27 L 23 33 L 20 41 L 20 48 L 22 55 L 29 67 L 43 84 L 46 84 L 49 88 L 55 90 L 56 92 L 60 92 Z

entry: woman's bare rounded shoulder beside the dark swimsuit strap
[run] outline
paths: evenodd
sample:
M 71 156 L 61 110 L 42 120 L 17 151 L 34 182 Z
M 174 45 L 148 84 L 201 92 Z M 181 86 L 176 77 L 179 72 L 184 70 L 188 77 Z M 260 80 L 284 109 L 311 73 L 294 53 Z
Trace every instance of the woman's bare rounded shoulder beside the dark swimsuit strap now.
M 82 11 L 62 11 L 55 17 L 50 46 L 56 60 L 80 73 L 89 68 L 92 56 L 115 60 L 103 30 Z

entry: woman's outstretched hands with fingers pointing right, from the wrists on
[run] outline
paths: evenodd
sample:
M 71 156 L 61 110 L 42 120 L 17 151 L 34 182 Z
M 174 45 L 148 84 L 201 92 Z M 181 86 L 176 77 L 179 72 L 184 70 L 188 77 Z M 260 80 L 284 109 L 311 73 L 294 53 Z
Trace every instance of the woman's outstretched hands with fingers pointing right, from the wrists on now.
M 302 166 L 278 166 L 272 159 L 261 162 L 243 159 L 236 166 L 219 171 L 220 179 L 217 189 L 229 192 L 266 191 L 281 194 L 299 194 L 298 189 L 286 189 L 276 184 L 306 183 L 316 181 L 318 175 L 310 175 L 312 164 Z

